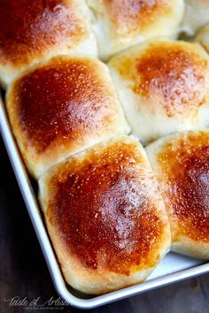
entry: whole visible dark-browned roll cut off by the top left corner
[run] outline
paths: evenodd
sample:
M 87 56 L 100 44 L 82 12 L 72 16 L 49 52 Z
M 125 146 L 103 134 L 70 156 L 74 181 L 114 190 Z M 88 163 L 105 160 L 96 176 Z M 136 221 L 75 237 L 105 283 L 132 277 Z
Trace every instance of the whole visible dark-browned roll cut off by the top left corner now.
M 0 80 L 60 54 L 97 55 L 84 0 L 1 0 Z

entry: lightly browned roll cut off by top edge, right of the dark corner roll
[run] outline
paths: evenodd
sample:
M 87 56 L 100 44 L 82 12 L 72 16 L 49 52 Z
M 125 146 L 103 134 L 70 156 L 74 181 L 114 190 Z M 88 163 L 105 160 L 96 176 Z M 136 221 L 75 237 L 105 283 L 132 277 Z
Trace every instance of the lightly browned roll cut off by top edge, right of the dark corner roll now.
M 93 12 L 99 57 L 106 60 L 137 42 L 174 37 L 182 22 L 182 0 L 87 0 Z

